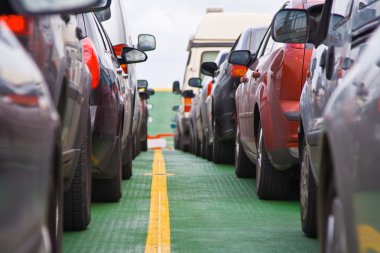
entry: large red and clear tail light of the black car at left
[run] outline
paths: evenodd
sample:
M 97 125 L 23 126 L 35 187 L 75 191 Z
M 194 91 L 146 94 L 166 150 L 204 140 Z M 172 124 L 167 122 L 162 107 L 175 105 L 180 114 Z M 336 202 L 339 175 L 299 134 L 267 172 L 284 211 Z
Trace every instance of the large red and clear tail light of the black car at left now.
M 93 90 L 95 90 L 98 88 L 100 81 L 99 57 L 96 53 L 94 43 L 89 37 L 86 37 L 82 40 L 82 45 L 84 61 L 86 62 L 86 65 L 92 74 L 91 87 Z

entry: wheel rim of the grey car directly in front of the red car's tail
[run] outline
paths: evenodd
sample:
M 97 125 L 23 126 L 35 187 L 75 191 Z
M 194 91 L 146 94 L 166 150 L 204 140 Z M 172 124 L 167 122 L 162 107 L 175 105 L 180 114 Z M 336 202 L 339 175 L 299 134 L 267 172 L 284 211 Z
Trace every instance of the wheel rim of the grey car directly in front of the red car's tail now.
M 300 180 L 300 203 L 302 220 L 306 220 L 307 208 L 309 206 L 309 176 L 309 156 L 307 154 L 307 148 L 305 146 L 302 156 Z

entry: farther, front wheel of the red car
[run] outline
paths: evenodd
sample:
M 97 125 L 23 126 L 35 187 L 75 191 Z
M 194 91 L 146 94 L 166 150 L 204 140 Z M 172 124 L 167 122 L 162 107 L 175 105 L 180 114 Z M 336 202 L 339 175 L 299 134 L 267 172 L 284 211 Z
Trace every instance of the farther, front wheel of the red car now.
M 235 137 L 235 175 L 239 178 L 252 178 L 256 175 L 256 166 L 249 160 L 242 147 L 239 128 Z

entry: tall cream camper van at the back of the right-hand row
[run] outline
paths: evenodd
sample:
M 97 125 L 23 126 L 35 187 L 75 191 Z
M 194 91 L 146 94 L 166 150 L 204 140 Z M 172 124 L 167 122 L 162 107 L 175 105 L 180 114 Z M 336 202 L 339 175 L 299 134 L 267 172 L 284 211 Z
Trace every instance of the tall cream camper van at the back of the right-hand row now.
M 269 25 L 270 17 L 253 13 L 224 13 L 222 9 L 208 9 L 201 23 L 198 25 L 197 32 L 189 41 L 187 51 L 189 52 L 188 61 L 182 84 L 182 91 L 197 89 L 189 86 L 190 78 L 201 78 L 201 63 L 214 61 L 219 51 L 226 50 L 233 46 L 234 41 L 240 32 L 252 25 Z M 215 29 L 222 27 L 223 29 Z M 180 87 L 174 89 L 178 93 Z M 181 106 L 178 111 L 178 134 L 176 137 L 182 144 L 184 151 L 190 145 L 190 125 L 189 117 L 191 110 L 191 99 L 181 98 Z M 226 155 L 229 157 L 228 155 Z M 219 158 L 219 156 L 218 156 Z

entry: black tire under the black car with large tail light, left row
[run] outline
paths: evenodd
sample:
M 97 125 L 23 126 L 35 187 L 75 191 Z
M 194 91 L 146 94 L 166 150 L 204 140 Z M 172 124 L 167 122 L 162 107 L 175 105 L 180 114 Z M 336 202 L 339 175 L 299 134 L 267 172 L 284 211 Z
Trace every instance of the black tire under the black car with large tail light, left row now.
M 121 198 L 121 143 L 117 140 L 116 149 L 112 154 L 114 166 L 117 166 L 117 173 L 110 179 L 94 179 L 92 181 L 92 200 L 99 202 L 117 202 Z

